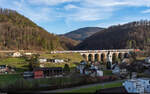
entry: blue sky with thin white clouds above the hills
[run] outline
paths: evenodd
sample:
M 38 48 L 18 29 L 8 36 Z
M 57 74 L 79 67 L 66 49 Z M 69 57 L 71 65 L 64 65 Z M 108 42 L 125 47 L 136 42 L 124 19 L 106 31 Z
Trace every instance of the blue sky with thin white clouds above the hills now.
M 0 0 L 50 33 L 150 20 L 150 0 Z

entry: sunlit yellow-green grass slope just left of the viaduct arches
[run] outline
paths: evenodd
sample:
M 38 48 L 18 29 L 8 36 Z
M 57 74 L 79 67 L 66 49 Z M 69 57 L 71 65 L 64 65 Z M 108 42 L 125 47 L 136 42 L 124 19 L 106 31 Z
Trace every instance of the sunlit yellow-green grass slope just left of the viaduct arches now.
M 47 63 L 46 67 L 64 67 L 67 63 L 70 67 L 75 67 L 75 63 L 79 63 L 81 60 L 84 60 L 83 57 L 79 53 L 57 53 L 57 54 L 41 54 L 40 58 L 48 58 L 48 59 L 63 59 L 68 60 L 68 62 L 64 63 Z

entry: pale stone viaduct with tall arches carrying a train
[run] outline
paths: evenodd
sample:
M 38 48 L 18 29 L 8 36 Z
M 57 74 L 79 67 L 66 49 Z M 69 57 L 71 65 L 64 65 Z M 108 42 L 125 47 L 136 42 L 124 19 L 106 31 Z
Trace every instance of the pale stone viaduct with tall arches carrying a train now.
M 130 52 L 137 52 L 139 49 L 116 49 L 116 50 L 78 50 L 78 51 L 52 51 L 51 53 L 80 53 L 86 61 L 104 61 L 109 53 L 111 59 L 124 58 Z

